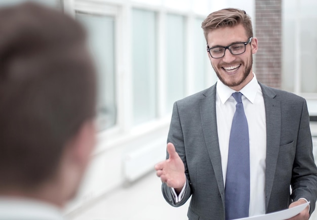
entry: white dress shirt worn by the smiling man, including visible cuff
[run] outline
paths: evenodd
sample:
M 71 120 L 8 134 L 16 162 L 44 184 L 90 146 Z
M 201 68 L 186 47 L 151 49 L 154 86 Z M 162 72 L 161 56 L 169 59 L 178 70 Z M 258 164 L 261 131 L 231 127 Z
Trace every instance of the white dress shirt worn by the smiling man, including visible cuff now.
M 261 87 L 253 73 L 253 79 L 239 92 L 248 120 L 250 139 L 250 207 L 249 216 L 265 214 L 265 159 L 266 159 L 266 118 Z M 220 80 L 216 85 L 216 116 L 223 182 L 226 181 L 228 147 L 232 118 L 235 112 L 235 100 L 231 96 L 236 92 Z M 185 184 L 186 186 L 186 184 Z M 175 202 L 183 198 L 185 186 L 177 196 L 171 188 Z

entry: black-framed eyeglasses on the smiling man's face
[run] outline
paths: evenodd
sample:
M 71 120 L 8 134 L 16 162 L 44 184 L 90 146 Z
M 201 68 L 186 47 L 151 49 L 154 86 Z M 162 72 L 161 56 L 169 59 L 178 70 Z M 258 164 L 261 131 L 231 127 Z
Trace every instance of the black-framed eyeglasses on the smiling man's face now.
M 210 56 L 215 59 L 223 57 L 226 49 L 228 49 L 233 55 L 239 55 L 246 52 L 246 46 L 251 42 L 251 40 L 252 37 L 250 37 L 247 42 L 232 43 L 232 45 L 229 45 L 227 47 L 207 48 L 207 51 L 209 52 Z

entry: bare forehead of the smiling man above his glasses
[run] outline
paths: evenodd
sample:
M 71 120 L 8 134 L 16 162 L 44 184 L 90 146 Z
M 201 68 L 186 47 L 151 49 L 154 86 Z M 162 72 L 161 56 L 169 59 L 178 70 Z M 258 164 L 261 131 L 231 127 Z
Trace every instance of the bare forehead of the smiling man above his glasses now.
M 228 46 L 235 42 L 248 40 L 246 29 L 242 24 L 234 27 L 221 27 L 211 30 L 207 35 L 208 47 Z

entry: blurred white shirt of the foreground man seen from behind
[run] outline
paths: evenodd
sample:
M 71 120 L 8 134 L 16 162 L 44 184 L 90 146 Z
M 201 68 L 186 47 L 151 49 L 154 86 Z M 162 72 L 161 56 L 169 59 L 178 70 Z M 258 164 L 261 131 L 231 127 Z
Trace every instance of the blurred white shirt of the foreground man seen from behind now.
M 63 220 L 60 208 L 38 200 L 0 197 L 0 220 Z

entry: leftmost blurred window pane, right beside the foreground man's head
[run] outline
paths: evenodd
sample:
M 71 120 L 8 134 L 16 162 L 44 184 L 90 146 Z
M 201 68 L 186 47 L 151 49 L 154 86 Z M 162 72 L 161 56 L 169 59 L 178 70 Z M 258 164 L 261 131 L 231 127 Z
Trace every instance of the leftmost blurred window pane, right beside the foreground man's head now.
M 116 122 L 114 18 L 77 13 L 76 19 L 87 28 L 89 45 L 97 66 L 97 122 L 101 130 Z

